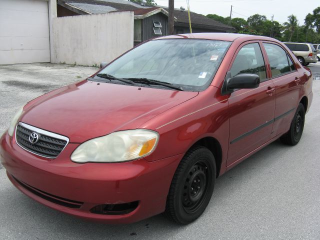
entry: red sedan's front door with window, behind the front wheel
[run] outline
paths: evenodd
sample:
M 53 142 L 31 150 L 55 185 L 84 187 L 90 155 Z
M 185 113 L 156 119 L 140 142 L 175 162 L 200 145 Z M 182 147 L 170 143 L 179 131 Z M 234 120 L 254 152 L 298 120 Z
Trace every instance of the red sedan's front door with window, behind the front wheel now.
M 259 42 L 239 46 L 229 68 L 231 76 L 254 73 L 260 85 L 254 89 L 237 89 L 229 98 L 230 130 L 227 166 L 271 139 L 275 94 L 272 80 L 267 79 Z

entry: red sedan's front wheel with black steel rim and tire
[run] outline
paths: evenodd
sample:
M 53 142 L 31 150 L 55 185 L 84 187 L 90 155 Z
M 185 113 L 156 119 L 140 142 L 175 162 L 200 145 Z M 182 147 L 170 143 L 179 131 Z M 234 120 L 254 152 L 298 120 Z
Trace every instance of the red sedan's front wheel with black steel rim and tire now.
M 187 151 L 174 173 L 164 215 L 179 224 L 198 218 L 212 196 L 215 174 L 214 156 L 208 148 L 196 146 Z

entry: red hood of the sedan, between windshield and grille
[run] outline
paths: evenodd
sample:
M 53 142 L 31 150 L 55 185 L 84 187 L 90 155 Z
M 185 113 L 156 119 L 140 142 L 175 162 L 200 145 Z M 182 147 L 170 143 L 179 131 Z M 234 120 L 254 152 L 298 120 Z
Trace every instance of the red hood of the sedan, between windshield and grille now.
M 81 81 L 33 99 L 20 121 L 83 142 L 134 129 L 198 92 Z

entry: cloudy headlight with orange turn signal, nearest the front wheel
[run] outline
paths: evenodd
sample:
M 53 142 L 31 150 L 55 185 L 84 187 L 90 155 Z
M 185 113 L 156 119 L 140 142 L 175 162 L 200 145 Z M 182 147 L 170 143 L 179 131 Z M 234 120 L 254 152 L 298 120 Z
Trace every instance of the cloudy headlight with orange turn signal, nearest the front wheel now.
M 150 154 L 159 134 L 147 129 L 112 132 L 79 145 L 71 154 L 74 162 L 119 162 Z

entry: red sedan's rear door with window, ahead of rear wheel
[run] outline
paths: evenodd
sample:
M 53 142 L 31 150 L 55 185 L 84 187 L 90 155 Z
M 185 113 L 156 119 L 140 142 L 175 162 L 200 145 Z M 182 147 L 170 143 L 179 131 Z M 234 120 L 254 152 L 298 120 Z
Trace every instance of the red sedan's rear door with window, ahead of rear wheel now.
M 281 45 L 275 42 L 263 42 L 263 46 L 276 95 L 272 134 L 280 135 L 290 127 L 299 101 L 301 79 L 292 59 Z

